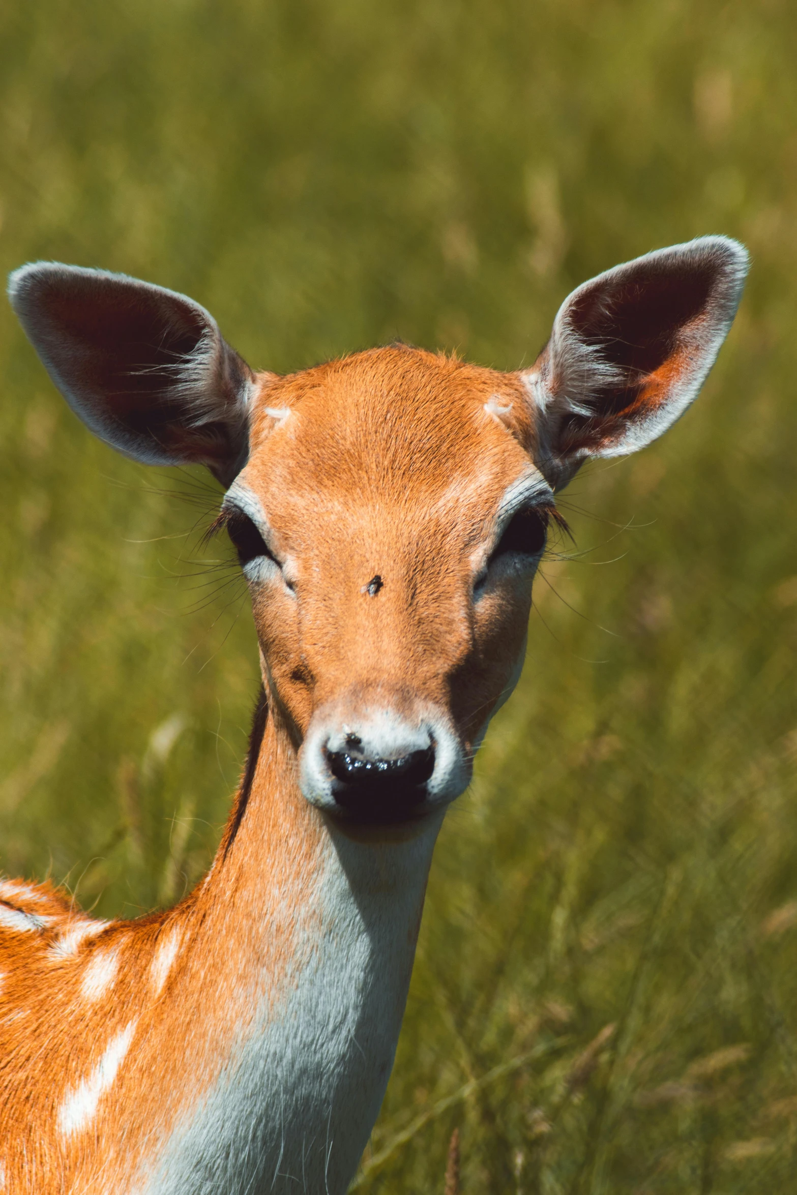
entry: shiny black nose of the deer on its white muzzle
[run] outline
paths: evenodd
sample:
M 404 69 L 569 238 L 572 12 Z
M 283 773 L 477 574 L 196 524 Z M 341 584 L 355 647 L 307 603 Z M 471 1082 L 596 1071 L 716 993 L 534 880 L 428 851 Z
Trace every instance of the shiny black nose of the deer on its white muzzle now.
M 348 820 L 397 822 L 412 816 L 427 796 L 427 780 L 435 768 L 434 747 L 399 759 L 369 759 L 355 750 L 326 753 L 335 777 L 335 803 Z

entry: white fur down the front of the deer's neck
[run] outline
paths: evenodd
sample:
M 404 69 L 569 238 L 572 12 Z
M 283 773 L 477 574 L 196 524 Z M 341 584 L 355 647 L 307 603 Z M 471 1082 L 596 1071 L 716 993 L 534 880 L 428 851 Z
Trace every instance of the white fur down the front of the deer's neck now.
M 135 1195 L 344 1195 L 393 1066 L 441 821 L 386 845 L 331 829 L 282 991 L 269 1006 L 252 976 L 255 1029 Z

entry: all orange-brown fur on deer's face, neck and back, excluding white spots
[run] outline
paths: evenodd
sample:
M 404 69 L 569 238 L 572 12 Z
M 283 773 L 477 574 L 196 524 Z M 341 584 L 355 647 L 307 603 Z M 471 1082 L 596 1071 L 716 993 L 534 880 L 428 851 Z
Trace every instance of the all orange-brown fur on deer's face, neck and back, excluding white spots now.
M 155 1146 L 153 1124 L 167 1134 L 217 1078 L 251 1009 L 249 994 L 237 1006 L 234 993 L 247 992 L 259 949 L 250 925 L 268 913 L 263 877 L 272 882 L 277 872 L 283 891 L 299 891 L 319 850 L 323 821 L 295 778 L 295 747 L 313 709 L 342 690 L 356 698 L 388 687 L 399 704 L 401 691 L 419 693 L 450 705 L 472 743 L 522 644 L 527 602 L 497 595 L 477 619 L 466 602 L 470 552 L 525 466 L 533 434 L 516 379 L 390 348 L 263 382 L 244 479 L 269 511 L 276 545 L 301 562 L 304 617 L 284 601 L 255 603 L 274 712 L 244 820 L 227 857 L 228 832 L 207 881 L 178 906 L 115 921 L 74 955 L 54 954 L 84 919 L 65 894 L 42 885 L 41 901 L 14 902 L 55 920 L 39 933 L 0 929 L 0 1141 L 13 1193 L 110 1190 Z M 513 404 L 511 431 L 484 410 L 496 394 Z M 289 406 L 298 418 L 275 430 L 266 404 Z M 360 589 L 374 572 L 385 576 L 385 590 L 368 601 Z M 290 926 L 283 929 L 259 960 L 275 991 L 294 949 Z M 155 994 L 154 954 L 176 930 L 182 948 Z M 82 975 L 110 950 L 119 955 L 114 985 L 108 998 L 88 1001 Z M 221 1015 L 209 1018 L 208 1010 Z M 100 1114 L 65 1139 L 65 1095 L 134 1017 L 136 1049 L 102 1096 Z

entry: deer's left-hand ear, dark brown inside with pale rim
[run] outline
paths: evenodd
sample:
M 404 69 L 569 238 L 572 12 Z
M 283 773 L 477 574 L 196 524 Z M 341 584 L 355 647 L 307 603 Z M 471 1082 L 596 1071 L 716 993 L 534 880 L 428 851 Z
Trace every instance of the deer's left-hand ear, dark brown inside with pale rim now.
M 37 262 L 8 296 L 72 410 L 148 465 L 207 465 L 222 484 L 249 448 L 249 366 L 192 299 L 124 274 Z

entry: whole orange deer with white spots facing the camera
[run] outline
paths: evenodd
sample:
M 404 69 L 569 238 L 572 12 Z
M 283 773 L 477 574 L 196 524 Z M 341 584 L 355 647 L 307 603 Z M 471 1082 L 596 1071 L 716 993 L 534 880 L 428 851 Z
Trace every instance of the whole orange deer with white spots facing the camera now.
M 343 1195 L 557 496 L 686 411 L 747 268 L 721 235 L 617 265 L 514 372 L 397 343 L 287 375 L 183 294 L 11 275 L 94 435 L 220 483 L 263 684 L 213 864 L 173 908 L 99 920 L 49 881 L 0 883 L 0 1190 Z

